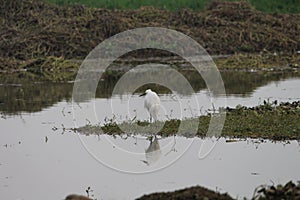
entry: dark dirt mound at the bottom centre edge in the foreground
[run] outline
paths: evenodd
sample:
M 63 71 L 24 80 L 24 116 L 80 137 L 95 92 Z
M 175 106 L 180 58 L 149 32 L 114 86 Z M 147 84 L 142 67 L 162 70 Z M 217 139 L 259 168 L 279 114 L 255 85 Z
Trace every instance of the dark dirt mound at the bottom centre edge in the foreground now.
M 177 190 L 175 192 L 161 192 L 145 195 L 137 200 L 154 200 L 154 199 L 180 199 L 180 200 L 190 200 L 190 199 L 220 199 L 220 200 L 229 200 L 232 199 L 228 194 L 220 194 L 208 190 L 206 188 L 196 186 L 183 190 Z

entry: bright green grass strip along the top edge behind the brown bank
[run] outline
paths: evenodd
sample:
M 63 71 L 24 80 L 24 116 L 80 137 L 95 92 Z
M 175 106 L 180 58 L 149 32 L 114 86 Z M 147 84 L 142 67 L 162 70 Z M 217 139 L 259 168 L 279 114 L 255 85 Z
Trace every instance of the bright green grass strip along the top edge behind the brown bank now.
M 81 4 L 108 9 L 138 9 L 142 6 L 176 11 L 181 8 L 203 10 L 213 0 L 48 0 L 58 5 Z M 236 0 L 229 0 L 236 1 Z M 257 9 L 268 13 L 300 13 L 299 0 L 249 0 Z

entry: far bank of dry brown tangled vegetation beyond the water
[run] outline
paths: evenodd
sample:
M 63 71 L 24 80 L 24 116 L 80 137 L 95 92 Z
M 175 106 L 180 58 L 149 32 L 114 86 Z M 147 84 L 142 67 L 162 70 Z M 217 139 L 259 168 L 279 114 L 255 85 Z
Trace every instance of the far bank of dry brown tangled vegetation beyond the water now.
M 211 55 L 234 55 L 217 60 L 220 69 L 300 66 L 297 53 L 300 15 L 258 12 L 245 1 L 213 3 L 203 12 L 170 12 L 153 7 L 138 10 L 59 7 L 42 0 L 0 0 L 0 5 L 3 10 L 0 72 L 3 73 L 28 71 L 48 80 L 70 80 L 80 65 L 73 62 L 75 59 L 83 60 L 98 44 L 115 34 L 146 26 L 182 32 Z M 153 41 L 150 38 L 145 42 Z M 130 52 L 122 58 L 168 56 L 174 55 L 148 49 Z

